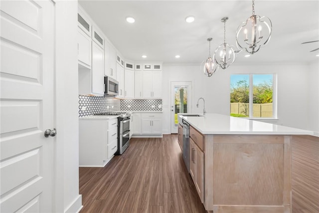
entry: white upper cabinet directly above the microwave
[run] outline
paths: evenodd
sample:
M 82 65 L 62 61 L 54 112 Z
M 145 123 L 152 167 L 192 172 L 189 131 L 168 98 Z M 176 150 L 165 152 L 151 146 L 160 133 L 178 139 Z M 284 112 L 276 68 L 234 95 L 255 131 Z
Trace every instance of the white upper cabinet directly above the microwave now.
M 116 50 L 107 39 L 104 42 L 105 70 L 104 74 L 117 80 L 116 76 Z

